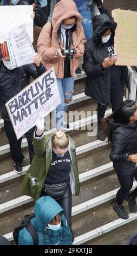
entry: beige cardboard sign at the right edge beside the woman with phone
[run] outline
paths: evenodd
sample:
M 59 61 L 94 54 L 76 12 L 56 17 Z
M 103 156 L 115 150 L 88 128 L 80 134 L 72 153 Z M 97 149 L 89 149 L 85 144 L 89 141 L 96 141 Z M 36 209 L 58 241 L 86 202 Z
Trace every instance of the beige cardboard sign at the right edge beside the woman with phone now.
M 137 65 L 137 12 L 115 9 L 112 11 L 115 30 L 114 52 L 118 53 L 115 65 Z

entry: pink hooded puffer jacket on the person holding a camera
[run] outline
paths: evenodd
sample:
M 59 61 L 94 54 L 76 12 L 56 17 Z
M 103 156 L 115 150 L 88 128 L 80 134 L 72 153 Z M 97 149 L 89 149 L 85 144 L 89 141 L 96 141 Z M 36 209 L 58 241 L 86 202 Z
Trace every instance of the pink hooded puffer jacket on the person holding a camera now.
M 60 48 L 57 31 L 63 20 L 73 16 L 76 17 L 76 30 L 72 34 L 73 45 L 70 45 L 70 48 L 78 48 L 80 50 L 80 56 L 83 56 L 86 38 L 81 25 L 82 17 L 73 0 L 61 0 L 55 5 L 52 18 L 53 31 L 51 33 L 51 23 L 47 22 L 42 28 L 37 41 L 37 51 L 42 56 L 43 65 L 46 69 L 50 69 L 54 66 L 56 77 L 59 78 L 64 77 L 64 59 L 60 56 L 56 56 L 57 48 Z M 62 41 L 61 48 L 63 48 Z M 75 76 L 75 70 L 78 68 L 79 64 L 78 57 L 70 59 L 70 73 L 72 77 Z

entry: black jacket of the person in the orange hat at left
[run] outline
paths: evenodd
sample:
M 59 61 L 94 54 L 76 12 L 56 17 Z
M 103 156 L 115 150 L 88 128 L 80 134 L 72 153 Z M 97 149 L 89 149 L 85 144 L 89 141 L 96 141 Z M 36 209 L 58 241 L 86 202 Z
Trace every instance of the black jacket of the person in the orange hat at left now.
M 30 83 L 30 76 L 34 79 L 45 72 L 43 64 L 37 68 L 35 64 L 20 66 L 9 70 L 3 62 L 0 63 L 0 110 L 2 118 L 9 121 L 9 115 L 5 108 L 5 103 Z

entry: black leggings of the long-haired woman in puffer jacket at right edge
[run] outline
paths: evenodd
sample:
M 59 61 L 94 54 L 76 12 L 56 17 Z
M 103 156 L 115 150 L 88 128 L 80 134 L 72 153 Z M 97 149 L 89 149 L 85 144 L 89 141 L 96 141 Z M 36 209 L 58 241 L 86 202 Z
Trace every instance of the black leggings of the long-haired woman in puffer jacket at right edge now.
M 116 173 L 118 180 L 120 182 L 120 189 L 116 194 L 116 203 L 121 205 L 123 200 L 128 196 L 129 191 L 133 186 L 134 177 L 137 181 L 137 172 L 128 175 L 121 175 Z M 137 197 L 137 187 L 130 193 L 131 198 L 135 199 Z

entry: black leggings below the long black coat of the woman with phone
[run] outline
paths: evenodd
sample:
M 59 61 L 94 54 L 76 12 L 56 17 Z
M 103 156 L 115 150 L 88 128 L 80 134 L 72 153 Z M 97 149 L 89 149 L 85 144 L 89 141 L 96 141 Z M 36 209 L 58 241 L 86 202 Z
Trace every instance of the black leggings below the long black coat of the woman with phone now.
M 112 104 L 112 112 L 120 105 L 123 101 L 123 84 L 116 85 L 116 88 L 111 89 L 110 102 Z M 97 103 L 97 120 L 98 124 L 101 124 L 101 119 L 104 117 L 107 106 Z

